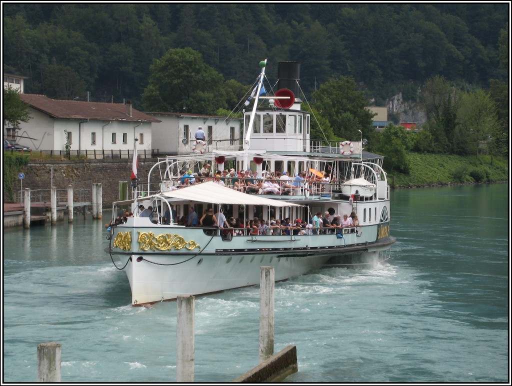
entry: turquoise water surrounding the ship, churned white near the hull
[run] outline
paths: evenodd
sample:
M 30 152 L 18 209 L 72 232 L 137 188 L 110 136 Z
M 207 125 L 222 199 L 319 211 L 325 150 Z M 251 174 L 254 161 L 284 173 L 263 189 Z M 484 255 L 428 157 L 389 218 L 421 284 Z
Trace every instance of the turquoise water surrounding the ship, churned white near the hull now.
M 287 382 L 508 382 L 508 185 L 392 191 L 393 259 L 275 285 Z M 106 216 L 106 215 L 105 215 Z M 4 382 L 34 382 L 37 344 L 62 382 L 176 381 L 176 303 L 130 306 L 103 221 L 4 230 Z M 258 364 L 259 288 L 197 297 L 195 381 Z

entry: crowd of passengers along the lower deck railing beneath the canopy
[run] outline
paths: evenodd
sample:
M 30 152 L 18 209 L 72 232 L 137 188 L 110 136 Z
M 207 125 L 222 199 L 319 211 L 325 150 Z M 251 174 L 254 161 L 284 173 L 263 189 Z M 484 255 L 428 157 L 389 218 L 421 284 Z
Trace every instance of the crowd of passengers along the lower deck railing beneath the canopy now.
M 190 209 L 194 211 L 194 209 Z M 190 215 L 189 215 L 190 218 Z M 181 219 L 182 225 L 187 224 L 185 216 Z M 180 224 L 180 222 L 178 222 Z M 205 209 L 202 217 L 199 219 L 199 226 L 223 228 L 223 233 L 230 233 L 231 236 L 239 235 L 298 235 L 298 234 L 327 234 L 342 233 L 344 227 L 359 226 L 359 219 L 354 211 L 349 215 L 343 215 L 343 220 L 339 215 L 333 215 L 326 211 L 324 217 L 322 212 L 316 212 L 315 216 L 309 221 L 295 219 L 293 223 L 290 218 L 285 219 L 258 219 L 246 220 L 245 224 L 240 218 L 226 218 L 224 213 L 214 214 L 212 208 Z

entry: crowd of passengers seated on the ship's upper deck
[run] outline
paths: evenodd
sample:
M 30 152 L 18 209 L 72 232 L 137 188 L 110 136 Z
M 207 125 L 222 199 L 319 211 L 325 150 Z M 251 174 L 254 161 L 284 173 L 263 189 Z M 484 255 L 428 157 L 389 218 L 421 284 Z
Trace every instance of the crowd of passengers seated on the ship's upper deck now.
M 301 171 L 291 177 L 287 171 L 264 170 L 259 176 L 258 171 L 252 170 L 225 169 L 217 170 L 214 173 L 210 171 L 210 168 L 210 164 L 205 163 L 199 173 L 194 173 L 192 170 L 181 170 L 180 176 L 177 178 L 178 184 L 173 189 L 212 181 L 248 194 L 292 195 L 294 189 L 300 189 L 305 182 L 308 182 L 306 190 L 310 194 L 322 194 L 326 184 L 335 180 L 335 177 L 330 176 L 328 171 L 318 172 L 318 175 L 313 173 L 308 175 L 306 171 Z

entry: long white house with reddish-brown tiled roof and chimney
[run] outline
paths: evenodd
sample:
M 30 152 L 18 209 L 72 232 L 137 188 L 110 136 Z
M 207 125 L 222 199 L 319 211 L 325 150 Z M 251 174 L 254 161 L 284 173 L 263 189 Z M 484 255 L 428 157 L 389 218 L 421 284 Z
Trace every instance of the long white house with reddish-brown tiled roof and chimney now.
M 36 94 L 22 94 L 22 99 L 28 103 L 32 119 L 21 122 L 15 137 L 33 150 L 65 151 L 69 144 L 72 152 L 87 151 L 90 156 L 94 151 L 133 151 L 137 138 L 139 154 L 151 154 L 152 125 L 160 120 L 133 109 L 130 101 L 82 102 Z

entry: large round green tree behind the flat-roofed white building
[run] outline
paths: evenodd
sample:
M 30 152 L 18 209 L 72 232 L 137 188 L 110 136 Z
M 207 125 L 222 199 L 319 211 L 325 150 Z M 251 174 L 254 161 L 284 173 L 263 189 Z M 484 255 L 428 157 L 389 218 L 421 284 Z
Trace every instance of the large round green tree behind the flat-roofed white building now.
M 150 66 L 142 94 L 146 111 L 215 114 L 225 108 L 223 77 L 191 48 L 172 49 Z

